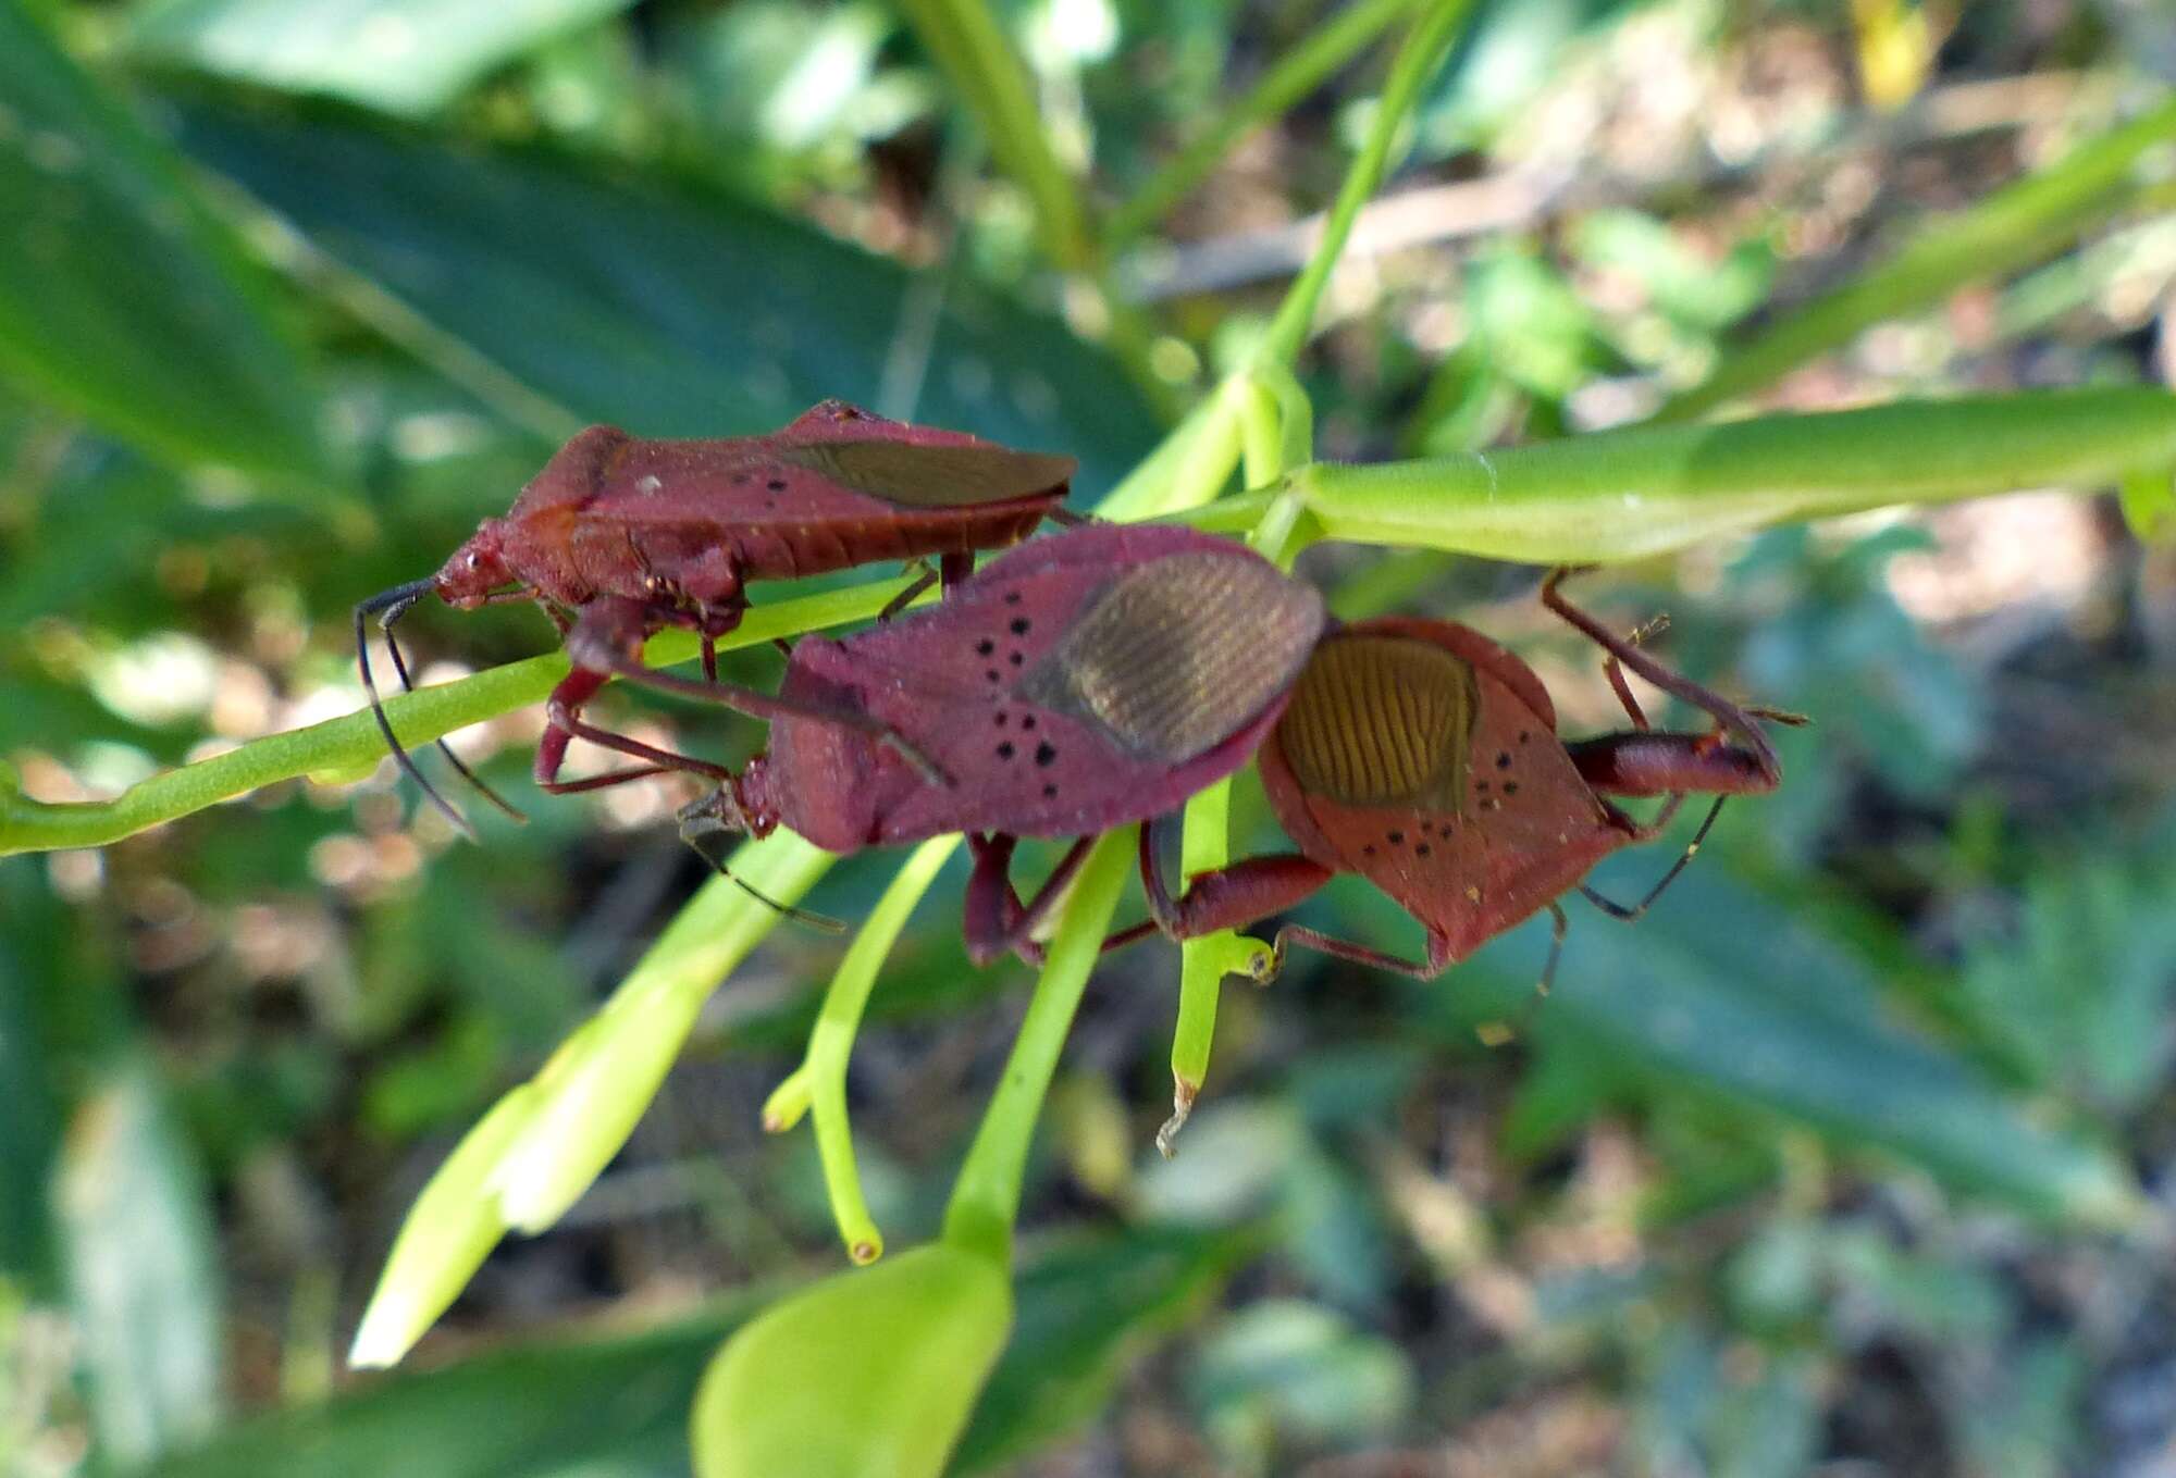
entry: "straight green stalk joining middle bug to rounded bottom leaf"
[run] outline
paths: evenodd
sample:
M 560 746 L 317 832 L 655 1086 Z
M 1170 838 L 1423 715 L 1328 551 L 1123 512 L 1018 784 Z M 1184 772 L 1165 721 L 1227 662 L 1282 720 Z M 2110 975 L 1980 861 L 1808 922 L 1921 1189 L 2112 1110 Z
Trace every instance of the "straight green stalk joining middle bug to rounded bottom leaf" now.
M 944 1241 L 955 1248 L 990 1258 L 1010 1256 L 1036 1117 L 1042 1113 L 1058 1056 L 1073 1030 L 1073 1013 L 1101 956 L 1103 935 L 1118 906 L 1127 863 L 1134 859 L 1136 835 L 1134 826 L 1105 832 L 1081 865 L 1066 900 L 1036 993 L 1021 1019 L 1021 1035 L 1014 1037 L 1012 1054 L 1005 1059 L 1005 1074 L 981 1115 L 975 1143 L 960 1165 L 960 1178 L 953 1180 L 951 1202 L 944 1208 Z

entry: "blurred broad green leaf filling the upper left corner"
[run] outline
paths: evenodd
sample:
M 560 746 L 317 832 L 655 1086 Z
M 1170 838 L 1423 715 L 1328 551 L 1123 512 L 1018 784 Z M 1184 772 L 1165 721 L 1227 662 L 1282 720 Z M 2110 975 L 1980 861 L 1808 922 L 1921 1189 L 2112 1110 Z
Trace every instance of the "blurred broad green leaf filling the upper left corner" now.
M 168 150 L 0 0 L 0 374 L 176 463 L 322 476 L 300 352 Z

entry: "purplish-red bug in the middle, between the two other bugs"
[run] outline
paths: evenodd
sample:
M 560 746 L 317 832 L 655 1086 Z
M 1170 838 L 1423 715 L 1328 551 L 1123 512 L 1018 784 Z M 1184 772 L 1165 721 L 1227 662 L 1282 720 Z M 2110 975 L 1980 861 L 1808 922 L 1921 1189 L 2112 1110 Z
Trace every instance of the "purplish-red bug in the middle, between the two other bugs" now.
M 803 637 L 779 696 L 809 715 L 772 722 L 770 752 L 681 830 L 790 826 L 831 852 L 968 832 L 970 959 L 1034 956 L 1029 935 L 1086 839 L 1245 765 L 1323 624 L 1314 589 L 1229 539 L 1147 524 L 1036 539 L 929 611 Z M 1025 906 L 1007 880 L 1016 837 L 1081 839 Z

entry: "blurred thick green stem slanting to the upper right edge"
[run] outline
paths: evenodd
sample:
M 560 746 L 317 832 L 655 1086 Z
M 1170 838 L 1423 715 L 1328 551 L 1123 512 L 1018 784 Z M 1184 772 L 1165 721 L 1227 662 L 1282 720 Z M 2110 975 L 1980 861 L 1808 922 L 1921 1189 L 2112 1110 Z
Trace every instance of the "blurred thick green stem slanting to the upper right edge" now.
M 1815 298 L 1728 350 L 1706 380 L 1669 400 L 1656 422 L 1682 422 L 1773 385 L 1850 343 L 1865 328 L 1926 311 L 1965 287 L 2054 256 L 2141 191 L 2141 156 L 2176 139 L 2176 102 L 2074 148 L 1980 204 L 1919 226 L 1882 265 Z

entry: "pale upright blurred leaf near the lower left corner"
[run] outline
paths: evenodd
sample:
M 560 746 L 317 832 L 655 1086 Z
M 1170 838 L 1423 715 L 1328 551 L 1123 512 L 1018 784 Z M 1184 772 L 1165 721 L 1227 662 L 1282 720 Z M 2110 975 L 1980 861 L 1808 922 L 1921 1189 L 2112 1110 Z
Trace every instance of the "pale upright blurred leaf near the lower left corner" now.
M 146 1063 L 81 1102 L 52 1200 L 100 1448 L 131 1463 L 202 1437 L 224 1354 L 211 1206 Z

